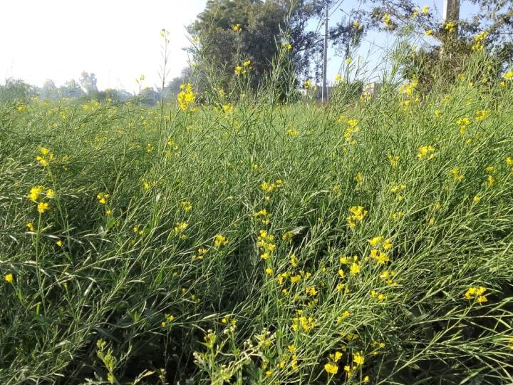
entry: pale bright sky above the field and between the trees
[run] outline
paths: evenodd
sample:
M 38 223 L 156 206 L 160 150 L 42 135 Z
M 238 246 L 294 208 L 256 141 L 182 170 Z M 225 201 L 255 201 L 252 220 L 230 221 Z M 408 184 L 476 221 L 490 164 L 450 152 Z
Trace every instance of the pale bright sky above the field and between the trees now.
M 157 86 L 162 63 L 160 30 L 170 31 L 170 63 L 167 79 L 187 66 L 185 27 L 194 21 L 206 0 L 18 0 L 2 1 L 0 23 L 0 82 L 21 78 L 42 86 L 52 79 L 56 86 L 78 81 L 82 71 L 95 73 L 98 88 L 138 90 L 135 78 L 145 75 L 142 86 Z M 330 24 L 344 16 L 344 9 L 358 4 L 345 0 L 333 7 Z M 443 1 L 418 1 L 441 16 Z M 461 16 L 472 10 L 467 3 Z M 437 10 L 435 10 L 437 6 Z M 315 23 L 316 25 L 316 23 Z M 314 27 L 315 28 L 315 27 Z M 380 63 L 383 48 L 393 45 L 393 35 L 366 36 L 353 60 L 368 61 L 368 72 Z M 328 79 L 338 73 L 343 58 L 328 51 Z

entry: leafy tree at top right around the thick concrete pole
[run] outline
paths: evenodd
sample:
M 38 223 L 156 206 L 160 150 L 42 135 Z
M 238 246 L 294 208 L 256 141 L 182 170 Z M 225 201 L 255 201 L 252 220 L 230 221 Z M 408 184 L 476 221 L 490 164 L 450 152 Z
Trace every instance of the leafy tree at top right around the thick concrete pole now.
M 486 50 L 487 66 L 480 78 L 498 78 L 502 64 L 513 60 L 513 1 L 472 0 L 479 10 L 460 21 L 440 21 L 429 7 L 420 9 L 410 0 L 373 0 L 368 12 L 369 28 L 393 31 L 398 35 L 431 36 L 434 44 L 406 57 L 403 74 L 418 78 L 429 88 L 435 79 L 447 84 L 465 67 L 470 54 Z

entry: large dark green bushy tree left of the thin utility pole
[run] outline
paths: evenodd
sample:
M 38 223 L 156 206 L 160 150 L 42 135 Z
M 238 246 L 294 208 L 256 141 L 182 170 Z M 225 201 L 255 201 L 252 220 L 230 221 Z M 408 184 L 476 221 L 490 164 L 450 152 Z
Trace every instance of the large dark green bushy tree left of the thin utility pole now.
M 326 0 L 209 0 L 189 27 L 202 53 L 198 58 L 195 52 L 197 61 L 214 63 L 219 83 L 227 84 L 236 76 L 234 68 L 250 60 L 252 85 L 257 86 L 279 49 L 286 47 L 297 75 L 308 76 L 312 68 L 318 74 L 322 38 L 318 30 L 309 31 L 308 24 L 320 20 L 325 5 Z M 352 23 L 348 18 L 331 28 L 330 41 L 344 47 L 358 44 L 365 30 Z

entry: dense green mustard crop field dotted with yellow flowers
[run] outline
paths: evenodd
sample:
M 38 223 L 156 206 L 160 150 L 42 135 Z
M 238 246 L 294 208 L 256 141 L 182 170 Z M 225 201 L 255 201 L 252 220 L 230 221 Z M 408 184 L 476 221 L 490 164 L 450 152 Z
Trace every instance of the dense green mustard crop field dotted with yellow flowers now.
M 513 73 L 0 105 L 2 384 L 513 384 Z

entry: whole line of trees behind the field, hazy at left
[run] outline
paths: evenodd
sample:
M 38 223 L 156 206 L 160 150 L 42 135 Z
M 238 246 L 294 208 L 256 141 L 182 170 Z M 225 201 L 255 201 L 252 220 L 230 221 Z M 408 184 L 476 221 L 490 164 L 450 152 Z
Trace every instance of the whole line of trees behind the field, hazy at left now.
M 429 36 L 420 49 L 410 47 L 401 67 L 405 78 L 417 78 L 429 88 L 435 79 L 454 81 L 471 53 L 486 50 L 489 65 L 482 75 L 493 80 L 513 61 L 513 0 L 470 0 L 479 9 L 467 19 L 445 22 L 427 6 L 412 0 L 371 0 L 354 9 L 343 9 L 339 20 L 331 17 L 328 41 L 343 58 L 350 58 L 371 31 L 387 31 L 395 36 Z M 274 58 L 286 49 L 299 79 L 321 78 L 323 12 L 341 6 L 335 0 L 209 0 L 204 11 L 188 27 L 192 46 L 187 48 L 191 66 L 172 79 L 165 88 L 141 88 L 134 95 L 124 90 L 99 91 L 94 73 L 83 72 L 78 81 L 57 87 L 48 80 L 42 87 L 18 79 L 0 86 L 0 99 L 58 98 L 128 100 L 148 106 L 163 97 L 176 98 L 180 85 L 192 81 L 202 93 L 207 64 L 214 71 L 217 86 L 229 90 L 237 81 L 237 68 L 251 63 L 250 86 L 257 88 L 269 76 Z M 463 7 L 464 5 L 462 5 Z M 312 29 L 312 26 L 315 26 Z M 203 77 L 203 78 L 202 78 Z M 204 83 L 204 82 L 203 82 Z

